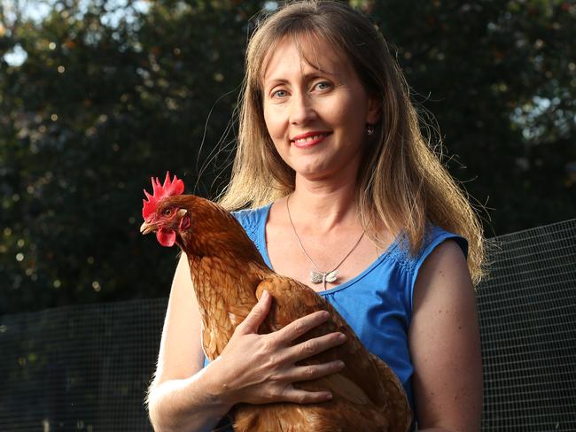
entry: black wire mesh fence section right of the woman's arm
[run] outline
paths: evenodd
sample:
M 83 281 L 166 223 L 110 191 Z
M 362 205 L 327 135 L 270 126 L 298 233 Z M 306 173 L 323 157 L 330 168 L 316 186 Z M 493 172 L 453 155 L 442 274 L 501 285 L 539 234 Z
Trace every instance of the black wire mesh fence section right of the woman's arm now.
M 576 431 L 576 220 L 497 237 L 479 286 L 483 431 Z

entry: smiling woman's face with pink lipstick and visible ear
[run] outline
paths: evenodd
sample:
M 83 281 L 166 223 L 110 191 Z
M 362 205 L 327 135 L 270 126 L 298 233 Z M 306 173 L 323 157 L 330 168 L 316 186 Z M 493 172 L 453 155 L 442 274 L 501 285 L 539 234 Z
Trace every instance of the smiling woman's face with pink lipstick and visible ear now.
M 262 81 L 264 120 L 284 162 L 308 180 L 346 173 L 355 180 L 378 104 L 353 66 L 326 43 L 284 38 Z

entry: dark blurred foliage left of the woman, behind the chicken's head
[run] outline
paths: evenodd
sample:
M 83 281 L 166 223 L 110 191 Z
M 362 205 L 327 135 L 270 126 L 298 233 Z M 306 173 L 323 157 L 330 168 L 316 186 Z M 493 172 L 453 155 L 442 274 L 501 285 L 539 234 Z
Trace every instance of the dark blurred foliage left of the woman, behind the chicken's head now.
M 210 195 L 214 172 L 197 184 L 198 171 L 230 122 L 261 4 L 117 3 L 4 23 L 3 49 L 27 54 L 0 57 L 4 312 L 166 296 L 176 250 L 139 234 L 142 189 L 169 169 Z

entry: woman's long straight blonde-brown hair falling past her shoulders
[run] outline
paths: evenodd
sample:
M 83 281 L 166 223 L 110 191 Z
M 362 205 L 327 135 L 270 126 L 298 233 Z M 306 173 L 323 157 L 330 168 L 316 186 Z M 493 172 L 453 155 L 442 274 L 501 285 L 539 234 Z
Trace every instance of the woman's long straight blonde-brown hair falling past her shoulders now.
M 409 85 L 384 37 L 347 4 L 294 2 L 258 25 L 246 52 L 237 155 L 220 204 L 230 210 L 255 208 L 294 190 L 295 173 L 278 155 L 264 121 L 261 78 L 277 43 L 303 36 L 339 47 L 367 93 L 381 102 L 381 120 L 358 174 L 356 204 L 362 227 L 377 244 L 384 243 L 378 227 L 394 234 L 403 230 L 412 254 L 422 247 L 429 222 L 463 235 L 469 243 L 472 281 L 478 283 L 485 261 L 479 218 L 424 138 Z

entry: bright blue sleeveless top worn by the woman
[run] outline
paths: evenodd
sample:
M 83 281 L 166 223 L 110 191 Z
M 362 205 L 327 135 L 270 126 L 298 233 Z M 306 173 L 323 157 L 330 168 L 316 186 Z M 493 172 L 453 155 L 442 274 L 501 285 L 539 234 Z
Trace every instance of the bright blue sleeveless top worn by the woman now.
M 232 213 L 270 268 L 265 228 L 271 205 Z M 411 377 L 414 368 L 408 332 L 414 284 L 424 259 L 447 239 L 454 239 L 464 257 L 468 256 L 466 239 L 433 226 L 416 256 L 410 256 L 407 240 L 399 235 L 361 274 L 332 289 L 318 292 L 342 315 L 368 351 L 392 367 L 406 390 L 413 412 Z

